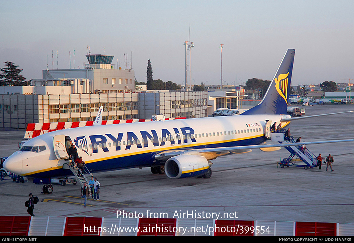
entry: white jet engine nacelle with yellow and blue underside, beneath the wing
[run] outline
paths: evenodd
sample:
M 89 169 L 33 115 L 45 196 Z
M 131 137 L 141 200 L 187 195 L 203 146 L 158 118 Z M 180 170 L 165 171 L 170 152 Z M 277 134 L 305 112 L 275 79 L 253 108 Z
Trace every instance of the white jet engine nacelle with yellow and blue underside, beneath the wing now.
M 204 175 L 210 166 L 204 156 L 181 154 L 166 161 L 165 172 L 172 179 L 195 177 Z

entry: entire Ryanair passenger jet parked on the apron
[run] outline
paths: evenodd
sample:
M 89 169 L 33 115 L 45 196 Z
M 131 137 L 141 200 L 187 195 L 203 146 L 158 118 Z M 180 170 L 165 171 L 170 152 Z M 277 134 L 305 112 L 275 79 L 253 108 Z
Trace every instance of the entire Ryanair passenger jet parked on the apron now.
M 72 140 L 91 172 L 165 166 L 167 176 L 211 176 L 210 160 L 229 153 L 308 143 L 264 144 L 272 123 L 287 126 L 286 114 L 295 50 L 288 49 L 268 90 L 257 106 L 241 115 L 171 121 L 86 126 L 35 137 L 4 162 L 4 168 L 26 177 L 47 179 L 72 175 L 65 164 L 65 138 Z M 304 117 L 306 118 L 306 117 Z

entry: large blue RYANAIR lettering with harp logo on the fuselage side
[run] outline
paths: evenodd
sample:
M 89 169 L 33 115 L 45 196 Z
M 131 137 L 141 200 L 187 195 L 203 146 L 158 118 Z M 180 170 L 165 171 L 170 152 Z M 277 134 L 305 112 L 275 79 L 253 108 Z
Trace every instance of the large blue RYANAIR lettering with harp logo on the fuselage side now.
M 159 141 L 159 136 L 156 132 L 156 130 L 150 130 L 150 131 L 139 131 L 140 134 L 137 134 L 137 132 L 119 132 L 118 134 L 97 134 L 97 135 L 89 135 L 88 139 L 91 141 L 92 145 L 92 153 L 98 153 L 98 148 L 102 148 L 103 152 L 109 152 L 108 148 L 106 146 L 103 146 L 104 143 L 108 142 L 113 142 L 115 144 L 115 151 L 121 150 L 122 146 L 125 145 L 125 150 L 129 150 L 132 145 L 136 145 L 137 148 L 147 148 L 149 141 L 153 144 L 154 147 L 157 146 L 164 146 L 166 143 L 166 140 L 161 139 Z M 173 128 L 173 134 L 168 130 L 168 129 L 161 129 L 161 137 L 169 137 L 171 145 L 174 144 L 181 144 L 181 143 L 188 143 L 188 139 L 190 139 L 192 142 L 196 142 L 195 137 L 193 136 L 194 134 L 194 129 L 190 127 L 183 127 L 183 128 Z M 125 144 L 125 141 L 122 142 L 123 136 L 126 136 L 126 141 L 127 143 Z M 171 136 L 172 135 L 172 136 Z M 141 137 L 141 140 L 138 138 Z M 171 139 L 172 137 L 172 139 Z M 74 139 L 75 146 L 80 148 L 82 151 L 88 154 L 88 148 L 87 148 L 87 139 L 86 135 L 84 136 L 78 136 L 76 139 Z M 101 144 L 101 146 L 99 146 Z M 91 146 L 90 146 L 91 147 Z

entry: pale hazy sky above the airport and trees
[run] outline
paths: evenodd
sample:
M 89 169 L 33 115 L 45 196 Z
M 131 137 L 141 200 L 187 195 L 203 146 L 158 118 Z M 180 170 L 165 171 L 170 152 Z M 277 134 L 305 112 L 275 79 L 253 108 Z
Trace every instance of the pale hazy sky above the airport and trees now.
M 124 53 L 138 81 L 184 81 L 184 41 L 194 42 L 195 84 L 272 79 L 288 48 L 296 49 L 292 85 L 354 79 L 354 1 L 16 1 L 1 0 L 0 67 L 12 61 L 29 79 L 42 69 L 75 68 L 91 54 Z M 52 50 L 54 66 L 52 66 Z M 242 81 L 241 81 L 242 80 Z M 354 81 L 352 81 L 353 83 Z M 192 81 L 194 84 L 194 81 Z

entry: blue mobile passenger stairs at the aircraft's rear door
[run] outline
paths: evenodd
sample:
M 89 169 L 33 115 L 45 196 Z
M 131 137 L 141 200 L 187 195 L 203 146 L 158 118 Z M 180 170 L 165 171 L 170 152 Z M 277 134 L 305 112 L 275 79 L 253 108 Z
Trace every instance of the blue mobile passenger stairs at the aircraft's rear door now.
M 279 143 L 295 143 L 295 137 L 291 136 L 290 141 L 284 140 L 284 142 Z M 303 167 L 305 170 L 307 168 L 314 168 L 317 166 L 317 157 L 310 152 L 307 148 L 303 151 L 301 150 L 301 146 L 289 146 L 284 147 L 287 151 L 290 152 L 290 156 L 284 159 L 280 158 L 280 167 L 284 168 L 284 166 L 295 166 L 295 167 Z M 296 156 L 296 157 L 295 157 Z M 300 159 L 305 164 L 296 164 L 297 161 Z

